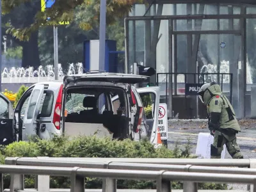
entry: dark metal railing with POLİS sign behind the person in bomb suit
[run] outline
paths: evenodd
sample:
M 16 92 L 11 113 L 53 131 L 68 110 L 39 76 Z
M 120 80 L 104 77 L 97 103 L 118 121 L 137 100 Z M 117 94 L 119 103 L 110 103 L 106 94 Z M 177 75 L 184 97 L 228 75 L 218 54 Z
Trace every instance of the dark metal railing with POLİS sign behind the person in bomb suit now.
M 207 118 L 204 106 L 198 102 L 198 88 L 215 81 L 232 103 L 233 75 L 228 73 L 157 73 L 161 102 L 168 104 L 168 117 Z M 171 113 L 172 112 L 172 113 Z

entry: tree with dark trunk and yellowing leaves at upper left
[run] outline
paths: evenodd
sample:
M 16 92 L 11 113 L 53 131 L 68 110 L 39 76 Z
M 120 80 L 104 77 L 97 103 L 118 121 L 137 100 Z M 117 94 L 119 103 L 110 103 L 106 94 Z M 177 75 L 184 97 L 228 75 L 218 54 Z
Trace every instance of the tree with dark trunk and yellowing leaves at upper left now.
M 133 3 L 142 3 L 142 1 L 108 0 L 107 24 L 114 24 L 116 19 L 124 17 L 131 11 Z M 99 25 L 100 0 L 58 0 L 45 12 L 41 12 L 40 0 L 2 0 L 2 6 L 4 15 L 8 17 L 6 34 L 13 36 L 16 43 L 22 46 L 23 67 L 40 65 L 38 51 L 40 26 L 53 26 L 62 21 L 69 21 L 71 25 L 72 22 L 76 22 L 79 28 L 93 32 Z M 83 17 L 84 13 L 88 17 Z M 47 21 L 47 17 L 51 20 Z M 42 44 L 43 41 L 40 43 Z

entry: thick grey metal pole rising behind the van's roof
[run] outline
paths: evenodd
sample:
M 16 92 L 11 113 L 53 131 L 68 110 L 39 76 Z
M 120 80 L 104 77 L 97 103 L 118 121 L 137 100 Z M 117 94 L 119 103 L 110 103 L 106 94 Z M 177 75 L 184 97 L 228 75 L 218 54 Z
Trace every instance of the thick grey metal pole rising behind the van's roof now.
M 100 0 L 99 70 L 105 66 L 106 0 Z

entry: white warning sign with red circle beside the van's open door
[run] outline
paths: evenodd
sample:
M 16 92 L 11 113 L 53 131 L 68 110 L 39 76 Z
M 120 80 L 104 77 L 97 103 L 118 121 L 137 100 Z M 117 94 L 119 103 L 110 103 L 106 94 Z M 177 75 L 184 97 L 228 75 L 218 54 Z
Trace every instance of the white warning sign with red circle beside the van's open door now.
M 161 134 L 161 140 L 167 140 L 168 139 L 168 119 L 167 119 L 167 105 L 165 103 L 159 104 L 157 128 Z

